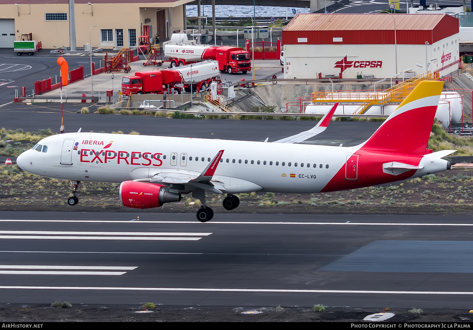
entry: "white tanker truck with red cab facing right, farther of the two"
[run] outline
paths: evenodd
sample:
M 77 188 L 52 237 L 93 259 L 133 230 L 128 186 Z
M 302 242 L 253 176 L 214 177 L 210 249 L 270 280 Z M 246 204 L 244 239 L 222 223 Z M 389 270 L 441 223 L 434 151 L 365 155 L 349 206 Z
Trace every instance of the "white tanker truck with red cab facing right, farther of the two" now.
M 180 38 L 180 40 L 182 39 L 183 37 Z M 171 67 L 173 68 L 214 60 L 219 62 L 220 71 L 227 71 L 229 74 L 246 73 L 251 70 L 250 53 L 241 48 L 190 43 L 187 42 L 187 36 L 184 39 L 179 42 L 174 41 L 175 38 L 171 38 L 171 41 L 164 44 L 164 55 L 172 59 Z

